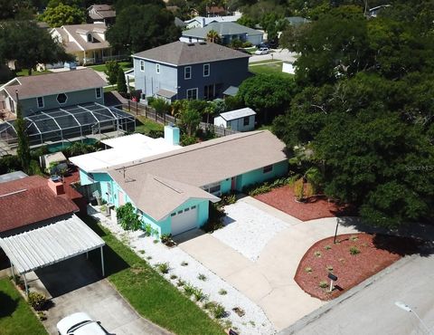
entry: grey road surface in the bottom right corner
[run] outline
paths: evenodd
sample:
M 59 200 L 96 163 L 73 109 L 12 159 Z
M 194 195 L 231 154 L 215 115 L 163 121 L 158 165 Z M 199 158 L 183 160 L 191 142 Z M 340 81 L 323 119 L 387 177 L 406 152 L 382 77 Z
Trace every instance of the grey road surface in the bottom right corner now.
M 333 335 L 428 334 L 412 312 L 395 306 L 410 305 L 434 335 L 434 255 L 418 256 L 354 296 L 335 305 L 316 321 L 293 332 Z M 282 332 L 289 334 L 291 332 Z

